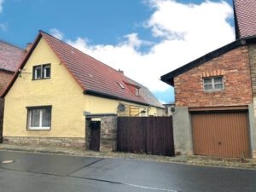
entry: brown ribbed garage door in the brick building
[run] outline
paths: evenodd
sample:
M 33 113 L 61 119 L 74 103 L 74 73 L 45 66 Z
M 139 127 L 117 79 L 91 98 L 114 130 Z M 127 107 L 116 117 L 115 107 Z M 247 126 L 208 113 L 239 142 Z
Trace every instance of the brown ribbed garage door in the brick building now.
M 250 158 L 247 112 L 191 113 L 194 153 Z

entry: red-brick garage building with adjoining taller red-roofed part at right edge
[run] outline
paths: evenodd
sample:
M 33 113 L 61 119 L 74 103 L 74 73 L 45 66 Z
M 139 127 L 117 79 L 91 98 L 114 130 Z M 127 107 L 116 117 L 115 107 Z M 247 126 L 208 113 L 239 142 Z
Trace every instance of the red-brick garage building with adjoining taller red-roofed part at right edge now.
M 177 152 L 256 158 L 256 2 L 234 2 L 236 41 L 161 80 L 175 90 Z

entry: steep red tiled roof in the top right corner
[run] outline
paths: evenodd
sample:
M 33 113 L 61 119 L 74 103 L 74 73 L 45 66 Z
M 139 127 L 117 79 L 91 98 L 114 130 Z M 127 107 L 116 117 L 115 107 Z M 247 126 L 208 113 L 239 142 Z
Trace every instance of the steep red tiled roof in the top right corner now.
M 256 35 L 256 1 L 234 0 L 236 39 Z

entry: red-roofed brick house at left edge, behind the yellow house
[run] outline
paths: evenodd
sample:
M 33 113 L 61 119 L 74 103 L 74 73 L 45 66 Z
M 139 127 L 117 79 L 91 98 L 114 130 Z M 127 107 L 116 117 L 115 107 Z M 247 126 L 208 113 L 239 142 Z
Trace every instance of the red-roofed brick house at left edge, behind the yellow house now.
M 26 50 L 0 40 L 0 94 L 13 78 L 25 54 Z M 0 98 L 0 143 L 2 142 L 3 131 L 3 108 L 4 100 Z

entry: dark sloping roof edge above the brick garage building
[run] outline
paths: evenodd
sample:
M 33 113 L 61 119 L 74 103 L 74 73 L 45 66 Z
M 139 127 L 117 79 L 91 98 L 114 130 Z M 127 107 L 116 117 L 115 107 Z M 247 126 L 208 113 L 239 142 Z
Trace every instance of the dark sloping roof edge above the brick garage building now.
M 215 49 L 212 52 L 209 52 L 206 55 L 203 55 L 203 56 L 199 57 L 198 59 L 195 59 L 194 61 L 190 61 L 189 63 L 173 70 L 170 73 L 166 73 L 166 74 L 162 75 L 160 77 L 160 80 L 165 82 L 166 84 L 170 84 L 173 86 L 173 84 L 174 84 L 173 78 L 176 77 L 177 75 L 185 73 L 194 67 L 198 67 L 201 64 L 206 63 L 207 61 L 211 61 L 212 59 L 218 57 L 219 55 L 223 55 L 224 53 L 227 53 L 232 49 L 236 49 L 236 48 L 240 47 L 241 45 L 245 45 L 245 44 L 247 44 L 246 40 L 249 40 L 252 38 L 256 39 L 256 37 L 251 37 L 251 38 L 247 38 L 247 39 L 240 38 L 234 42 L 231 42 L 230 44 L 224 45 L 221 48 Z

